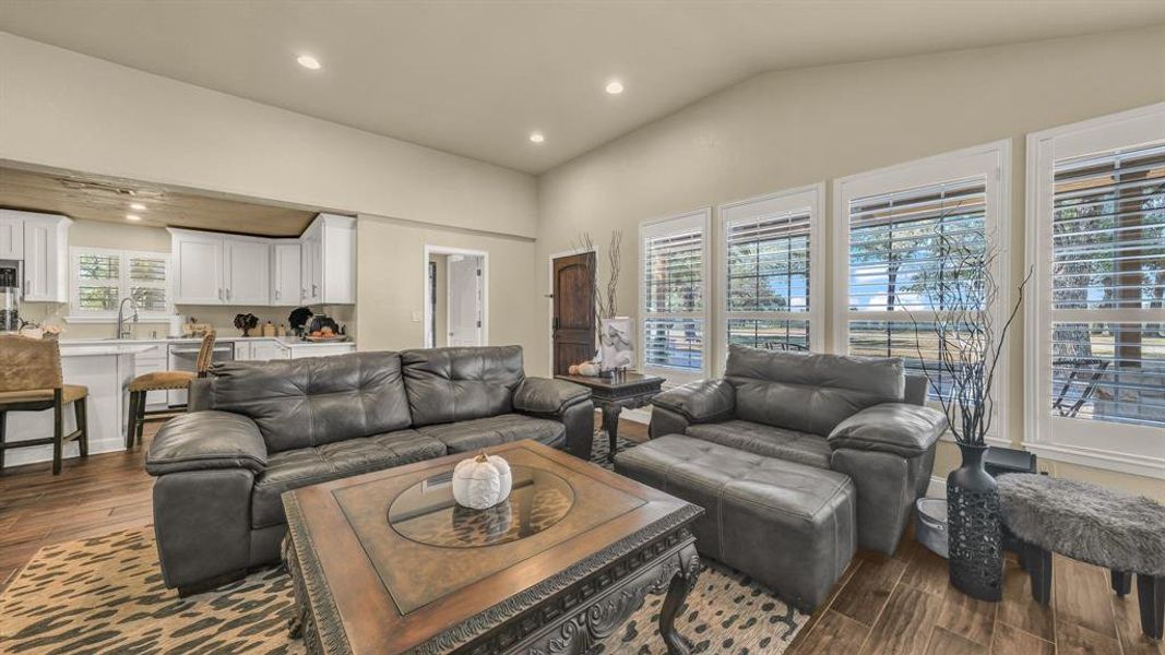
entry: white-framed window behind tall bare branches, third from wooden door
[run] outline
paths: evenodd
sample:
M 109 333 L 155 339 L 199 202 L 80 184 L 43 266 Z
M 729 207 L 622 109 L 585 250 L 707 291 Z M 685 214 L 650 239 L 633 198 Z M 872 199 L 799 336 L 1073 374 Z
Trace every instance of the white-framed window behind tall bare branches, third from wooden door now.
M 934 322 L 954 325 L 955 307 L 935 293 L 944 276 L 981 275 L 962 261 L 995 252 L 993 274 L 1001 288 L 994 307 L 969 315 L 1002 325 L 1009 308 L 1007 277 L 1005 141 L 959 150 L 839 179 L 834 347 L 869 357 L 901 357 L 908 372 L 927 374 L 931 399 L 951 389 L 942 375 Z M 945 288 L 945 287 L 944 287 Z M 1004 317 L 1005 318 L 1005 317 Z M 1007 397 L 1004 355 L 996 371 L 994 437 L 1002 438 Z

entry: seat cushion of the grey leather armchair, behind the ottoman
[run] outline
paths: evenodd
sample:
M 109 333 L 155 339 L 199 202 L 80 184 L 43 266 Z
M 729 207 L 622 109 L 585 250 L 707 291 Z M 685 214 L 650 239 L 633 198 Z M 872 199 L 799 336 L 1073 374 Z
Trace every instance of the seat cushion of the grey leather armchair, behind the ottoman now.
M 723 421 L 689 425 L 687 436 L 764 457 L 829 467 L 829 443 L 817 435 L 774 428 L 750 421 Z

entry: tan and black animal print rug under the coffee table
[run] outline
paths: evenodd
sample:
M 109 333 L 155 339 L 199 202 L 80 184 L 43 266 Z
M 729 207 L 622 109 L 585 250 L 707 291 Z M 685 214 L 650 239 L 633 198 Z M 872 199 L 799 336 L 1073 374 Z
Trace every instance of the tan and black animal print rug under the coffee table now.
M 749 578 L 704 562 L 676 621 L 694 650 L 783 653 L 809 617 Z M 666 653 L 658 631 L 662 604 L 663 596 L 648 596 L 596 653 Z M 278 568 L 179 599 L 162 584 L 154 530 L 126 530 L 42 548 L 0 594 L 0 653 L 298 655 L 303 642 L 287 633 L 291 612 L 290 578 Z

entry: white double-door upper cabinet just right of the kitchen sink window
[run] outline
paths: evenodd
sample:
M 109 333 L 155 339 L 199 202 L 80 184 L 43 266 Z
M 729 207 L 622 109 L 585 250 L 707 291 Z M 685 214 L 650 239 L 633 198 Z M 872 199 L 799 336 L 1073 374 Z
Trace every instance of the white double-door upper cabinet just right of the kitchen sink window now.
M 270 304 L 268 239 L 170 230 L 175 304 Z

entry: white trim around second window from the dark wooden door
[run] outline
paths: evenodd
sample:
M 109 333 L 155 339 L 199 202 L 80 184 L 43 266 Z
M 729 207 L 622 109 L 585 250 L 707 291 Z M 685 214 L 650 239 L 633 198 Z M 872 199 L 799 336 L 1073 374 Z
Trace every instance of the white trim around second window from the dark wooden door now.
M 755 207 L 755 213 L 796 211 L 809 207 L 809 311 L 760 311 L 747 312 L 755 318 L 775 321 L 809 321 L 809 347 L 813 352 L 824 352 L 826 343 L 825 325 L 825 182 L 786 189 L 763 196 L 733 200 L 716 206 L 718 228 L 715 231 L 715 272 L 718 298 L 714 312 L 713 332 L 715 334 L 715 371 L 725 369 L 728 358 L 728 223 L 733 210 Z

